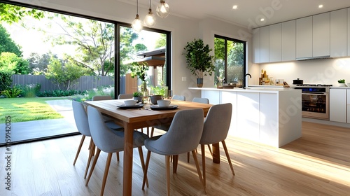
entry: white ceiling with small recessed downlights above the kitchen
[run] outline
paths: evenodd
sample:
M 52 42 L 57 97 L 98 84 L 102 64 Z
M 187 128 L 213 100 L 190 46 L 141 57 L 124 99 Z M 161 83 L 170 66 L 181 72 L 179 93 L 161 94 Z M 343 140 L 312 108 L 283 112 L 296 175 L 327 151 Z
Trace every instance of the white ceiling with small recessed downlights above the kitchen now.
M 137 0 L 117 0 L 136 5 Z M 349 0 L 165 0 L 172 15 L 202 20 L 216 18 L 244 27 L 271 25 L 330 10 L 350 7 Z M 159 0 L 151 0 L 153 13 Z M 139 0 L 147 8 L 149 0 Z M 318 8 L 323 4 L 323 8 Z M 232 6 L 237 5 L 236 10 Z M 141 14 L 141 13 L 140 13 Z M 264 16 L 265 22 L 260 22 Z M 255 25 L 252 25 L 252 24 Z

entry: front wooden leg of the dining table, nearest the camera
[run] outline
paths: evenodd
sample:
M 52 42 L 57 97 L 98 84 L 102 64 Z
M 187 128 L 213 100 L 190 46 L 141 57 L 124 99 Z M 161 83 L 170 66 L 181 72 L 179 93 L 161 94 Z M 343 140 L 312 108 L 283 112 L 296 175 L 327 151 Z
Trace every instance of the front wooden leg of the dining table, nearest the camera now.
M 129 123 L 124 123 L 124 164 L 123 164 L 123 195 L 132 195 L 132 158 L 134 130 Z

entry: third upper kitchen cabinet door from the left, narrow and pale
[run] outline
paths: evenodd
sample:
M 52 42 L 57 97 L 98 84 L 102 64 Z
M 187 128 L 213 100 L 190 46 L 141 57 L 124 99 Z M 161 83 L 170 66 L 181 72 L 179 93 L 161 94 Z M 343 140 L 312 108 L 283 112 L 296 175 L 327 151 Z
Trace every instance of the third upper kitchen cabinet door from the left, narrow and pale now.
M 269 62 L 281 62 L 281 23 L 269 26 Z

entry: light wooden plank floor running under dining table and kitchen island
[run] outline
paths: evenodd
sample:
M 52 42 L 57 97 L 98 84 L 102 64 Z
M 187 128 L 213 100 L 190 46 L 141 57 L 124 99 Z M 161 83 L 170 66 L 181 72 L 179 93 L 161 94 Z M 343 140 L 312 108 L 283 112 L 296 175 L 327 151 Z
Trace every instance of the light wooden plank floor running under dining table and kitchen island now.
M 10 191 L 6 190 L 8 171 L 4 162 L 8 154 L 6 148 L 0 148 L 0 195 L 99 195 L 106 153 L 100 155 L 92 179 L 85 186 L 89 140 L 76 165 L 72 165 L 80 137 L 11 146 Z M 226 144 L 236 176 L 232 176 L 223 151 L 220 165 L 212 163 L 207 153 L 207 195 L 350 195 L 349 128 L 303 122 L 302 138 L 282 148 L 232 138 Z M 132 195 L 166 195 L 164 160 L 152 154 L 150 187 L 143 191 L 139 153 L 134 151 Z M 193 158 L 188 163 L 186 155 L 180 155 L 178 172 L 171 181 L 172 195 L 204 195 Z M 116 162 L 114 156 L 104 195 L 122 195 L 122 183 L 123 159 Z

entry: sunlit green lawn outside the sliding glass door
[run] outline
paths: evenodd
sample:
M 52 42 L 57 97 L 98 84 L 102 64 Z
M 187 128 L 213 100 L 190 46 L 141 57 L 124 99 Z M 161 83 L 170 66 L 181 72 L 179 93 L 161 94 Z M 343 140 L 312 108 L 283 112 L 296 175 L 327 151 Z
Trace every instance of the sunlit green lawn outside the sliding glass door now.
M 34 98 L 4 98 L 0 99 L 0 123 L 5 123 L 5 117 L 10 116 L 11 123 L 31 120 L 63 118 L 45 101 L 66 99 L 66 97 L 34 97 Z

